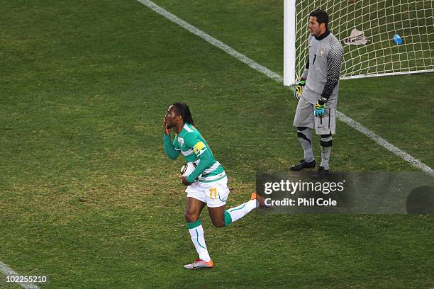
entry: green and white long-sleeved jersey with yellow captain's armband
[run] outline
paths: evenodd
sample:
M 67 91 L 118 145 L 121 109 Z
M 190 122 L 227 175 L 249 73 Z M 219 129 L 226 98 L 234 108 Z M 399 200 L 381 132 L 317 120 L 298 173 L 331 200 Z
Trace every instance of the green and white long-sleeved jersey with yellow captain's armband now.
M 189 123 L 184 124 L 173 142 L 170 135 L 165 135 L 164 147 L 170 159 L 176 159 L 181 153 L 187 162 L 197 164 L 196 169 L 187 177 L 189 183 L 194 182 L 200 174 L 202 174 L 200 182 L 218 181 L 226 177 L 223 166 L 217 162 L 204 137 Z

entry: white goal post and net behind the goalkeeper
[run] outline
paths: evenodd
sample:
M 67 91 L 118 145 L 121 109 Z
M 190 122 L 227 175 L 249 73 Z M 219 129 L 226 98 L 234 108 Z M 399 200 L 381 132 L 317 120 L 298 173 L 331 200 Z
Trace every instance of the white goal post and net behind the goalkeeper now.
M 303 73 L 308 14 L 316 8 L 328 13 L 328 27 L 343 44 L 340 79 L 434 72 L 434 0 L 284 0 L 285 86 Z M 364 33 L 365 45 L 344 44 L 353 29 Z

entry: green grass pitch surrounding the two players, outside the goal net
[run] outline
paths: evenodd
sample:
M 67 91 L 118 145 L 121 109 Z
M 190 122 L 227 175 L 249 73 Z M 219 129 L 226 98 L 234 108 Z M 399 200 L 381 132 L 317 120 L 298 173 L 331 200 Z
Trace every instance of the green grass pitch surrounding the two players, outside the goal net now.
M 282 1 L 155 2 L 282 75 Z M 0 4 L 0 261 L 50 276 L 40 288 L 434 288 L 430 215 L 252 212 L 217 229 L 205 213 L 216 267 L 184 270 L 167 107 L 189 104 L 231 207 L 256 171 L 300 159 L 291 93 L 138 1 Z M 433 74 L 340 88 L 340 111 L 434 167 Z M 334 140 L 335 171 L 416 170 L 345 123 Z

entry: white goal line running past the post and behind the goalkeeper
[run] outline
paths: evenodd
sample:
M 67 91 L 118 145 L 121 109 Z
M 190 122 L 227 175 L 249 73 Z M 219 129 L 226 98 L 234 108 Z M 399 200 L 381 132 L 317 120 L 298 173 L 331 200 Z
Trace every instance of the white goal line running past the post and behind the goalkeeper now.
M 283 77 L 281 77 L 279 74 L 272 72 L 267 67 L 263 67 L 261 64 L 255 62 L 254 60 L 251 60 L 249 57 L 242 55 L 237 50 L 233 49 L 232 47 L 226 45 L 225 43 L 221 42 L 220 40 L 217 40 L 216 38 L 213 38 L 211 35 L 206 34 L 204 31 L 192 26 L 191 24 L 185 22 L 181 18 L 175 16 L 174 14 L 170 13 L 169 11 L 165 10 L 165 8 L 162 8 L 155 4 L 152 1 L 149 0 L 138 0 L 141 4 L 148 6 L 148 8 L 151 8 L 153 11 L 159 13 L 161 16 L 164 16 L 165 18 L 169 19 L 170 21 L 177 23 L 179 26 L 181 26 L 184 29 L 189 30 L 194 35 L 199 36 L 203 40 L 205 40 L 208 43 L 211 43 L 212 45 L 220 48 L 224 52 L 228 53 L 228 55 L 232 55 L 236 59 L 240 60 L 241 62 L 244 62 L 248 66 L 252 67 L 253 69 L 256 69 L 258 72 L 261 72 L 262 74 L 267 75 L 267 77 L 274 79 L 275 81 L 283 82 Z M 396 154 L 396 156 L 401 157 L 402 159 L 409 162 L 411 165 L 416 166 L 416 168 L 421 169 L 422 171 L 425 171 L 426 174 L 429 174 L 430 176 L 434 177 L 434 170 L 431 169 L 426 164 L 423 164 L 421 160 L 416 159 L 414 157 L 411 157 L 410 154 L 407 154 L 402 149 L 399 149 L 398 147 L 395 147 L 390 142 L 387 142 L 384 140 L 384 138 L 380 137 L 379 135 L 376 135 L 371 130 L 365 128 L 360 123 L 357 123 L 357 121 L 353 120 L 352 118 L 348 117 L 347 115 L 341 113 L 338 111 L 337 113 L 339 120 L 343 121 L 347 125 L 350 125 L 350 127 L 354 128 L 355 130 L 362 132 L 362 134 L 369 137 L 371 140 L 374 140 L 374 142 L 377 142 L 377 144 L 381 145 L 385 149 L 389 150 L 389 152 L 392 152 Z

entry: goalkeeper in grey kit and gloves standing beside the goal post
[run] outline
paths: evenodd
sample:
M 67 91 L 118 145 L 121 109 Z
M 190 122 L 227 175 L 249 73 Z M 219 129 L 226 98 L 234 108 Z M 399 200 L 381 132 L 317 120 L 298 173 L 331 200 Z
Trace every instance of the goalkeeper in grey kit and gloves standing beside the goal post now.
M 328 30 L 328 14 L 315 10 L 309 14 L 309 56 L 295 91 L 297 104 L 294 126 L 304 149 L 304 158 L 291 167 L 300 171 L 316 166 L 313 157 L 312 135 L 315 129 L 321 135 L 321 164 L 315 177 L 327 176 L 332 147 L 332 135 L 336 130 L 336 104 L 338 103 L 340 67 L 343 62 L 343 47 Z

